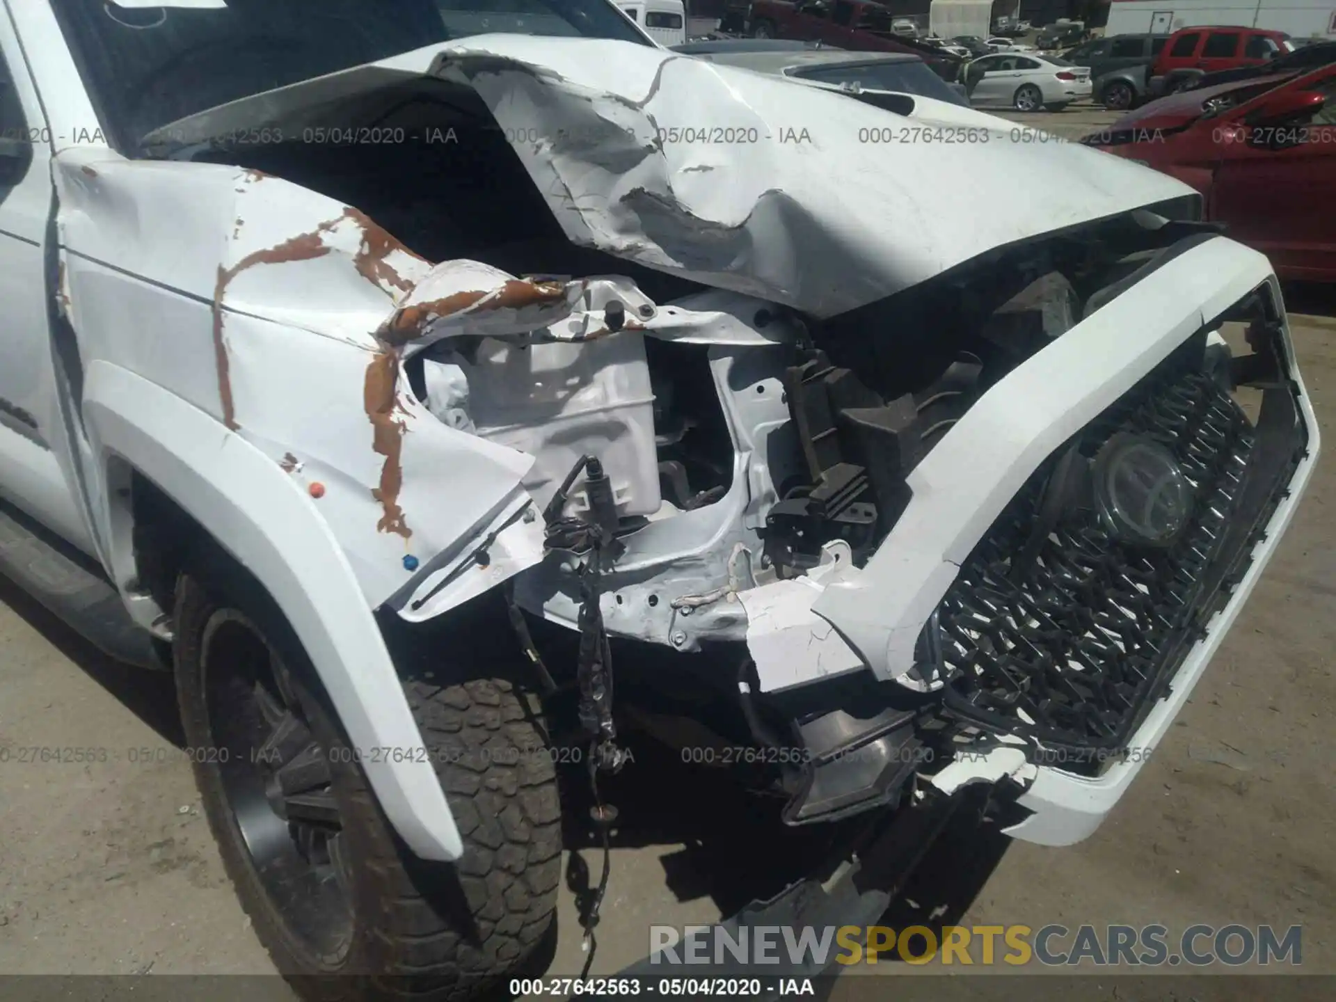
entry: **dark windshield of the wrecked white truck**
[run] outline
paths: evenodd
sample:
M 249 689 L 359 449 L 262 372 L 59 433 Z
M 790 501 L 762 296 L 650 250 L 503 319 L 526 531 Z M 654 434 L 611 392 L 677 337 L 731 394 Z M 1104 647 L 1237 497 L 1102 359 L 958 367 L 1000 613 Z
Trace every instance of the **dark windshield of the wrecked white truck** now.
M 437 41 L 510 32 L 651 44 L 605 0 L 52 0 L 112 142 Z

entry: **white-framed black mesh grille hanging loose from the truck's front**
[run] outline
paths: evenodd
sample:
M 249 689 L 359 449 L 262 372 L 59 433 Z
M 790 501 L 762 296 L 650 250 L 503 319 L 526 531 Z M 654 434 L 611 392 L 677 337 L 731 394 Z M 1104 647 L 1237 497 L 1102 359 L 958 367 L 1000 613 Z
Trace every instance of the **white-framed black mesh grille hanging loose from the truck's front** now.
M 908 508 L 864 566 L 830 560 L 740 596 L 763 691 L 867 668 L 922 693 L 927 719 L 955 741 L 954 759 L 926 776 L 933 787 L 999 784 L 1029 812 L 1009 834 L 1042 844 L 1089 836 L 1133 782 L 1246 601 L 1317 456 L 1265 258 L 1194 236 L 1113 291 L 914 469 Z M 1259 323 L 1273 343 L 1236 362 L 1269 357 L 1277 370 L 1244 379 L 1263 387 L 1252 426 L 1200 371 L 1200 354 L 1196 371 L 1177 361 L 1245 301 L 1271 311 Z M 1200 493 L 1168 550 L 1063 528 L 1058 512 L 1045 522 L 1058 457 L 1129 429 L 1177 450 Z M 1018 585 L 1027 550 L 1041 568 L 1022 569 Z M 872 744 L 890 741 L 888 762 L 903 762 L 906 733 Z M 882 778 L 900 782 L 894 772 Z

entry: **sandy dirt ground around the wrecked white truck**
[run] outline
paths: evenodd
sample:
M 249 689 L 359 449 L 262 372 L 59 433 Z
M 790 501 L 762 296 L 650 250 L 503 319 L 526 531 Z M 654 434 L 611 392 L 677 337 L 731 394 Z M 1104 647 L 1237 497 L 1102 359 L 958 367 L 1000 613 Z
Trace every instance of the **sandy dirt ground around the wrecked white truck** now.
M 1071 108 L 1023 120 L 1078 138 L 1112 116 Z M 1300 289 L 1289 297 L 1327 437 L 1336 415 L 1336 295 Z M 1104 828 L 1065 850 L 946 839 L 892 921 L 1173 930 L 1301 923 L 1303 969 L 1336 973 L 1333 505 L 1336 450 L 1328 445 L 1250 604 Z M 0 764 L 0 973 L 273 971 L 223 876 L 172 715 L 166 676 L 108 663 L 0 582 L 0 748 L 94 747 L 112 759 Z M 716 807 L 703 798 L 703 822 Z M 620 844 L 595 973 L 644 955 L 651 922 L 717 916 L 764 867 L 751 847 L 712 856 L 652 834 Z M 597 878 L 599 854 L 581 856 Z M 550 973 L 576 974 L 582 955 L 569 891 L 554 949 Z M 263 983 L 282 997 L 279 982 Z M 1109 974 L 1090 985 L 1098 998 L 1169 993 L 1120 994 Z M 979 997 L 945 982 L 942 990 L 941 998 Z

